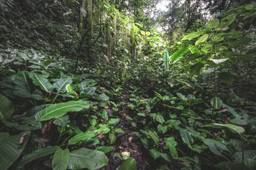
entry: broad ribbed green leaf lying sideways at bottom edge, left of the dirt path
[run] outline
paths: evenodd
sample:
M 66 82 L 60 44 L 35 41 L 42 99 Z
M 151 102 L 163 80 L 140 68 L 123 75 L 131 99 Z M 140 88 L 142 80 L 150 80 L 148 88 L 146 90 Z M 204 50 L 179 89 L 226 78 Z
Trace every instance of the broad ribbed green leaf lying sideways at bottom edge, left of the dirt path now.
M 82 147 L 70 152 L 68 169 L 100 169 L 107 164 L 108 159 L 103 152 Z

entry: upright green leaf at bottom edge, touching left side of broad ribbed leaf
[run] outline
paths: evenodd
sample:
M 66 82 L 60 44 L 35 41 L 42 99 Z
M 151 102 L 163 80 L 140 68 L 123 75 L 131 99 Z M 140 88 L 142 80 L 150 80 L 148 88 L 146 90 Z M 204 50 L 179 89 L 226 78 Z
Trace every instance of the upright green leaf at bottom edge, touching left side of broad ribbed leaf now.
M 68 161 L 70 152 L 68 149 L 58 148 L 53 155 L 53 170 L 66 170 L 68 168 Z

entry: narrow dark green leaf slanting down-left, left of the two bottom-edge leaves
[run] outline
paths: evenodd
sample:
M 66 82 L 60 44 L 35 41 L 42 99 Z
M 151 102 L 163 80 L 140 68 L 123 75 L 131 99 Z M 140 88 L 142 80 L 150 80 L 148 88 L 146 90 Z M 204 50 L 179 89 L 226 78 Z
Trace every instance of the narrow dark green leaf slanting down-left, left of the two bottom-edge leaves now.
M 49 146 L 43 147 L 41 149 L 37 149 L 35 152 L 28 154 L 26 157 L 21 159 L 21 162 L 18 163 L 18 166 L 23 166 L 24 164 L 31 162 L 35 159 L 46 157 L 49 154 L 53 154 L 59 147 L 57 146 Z

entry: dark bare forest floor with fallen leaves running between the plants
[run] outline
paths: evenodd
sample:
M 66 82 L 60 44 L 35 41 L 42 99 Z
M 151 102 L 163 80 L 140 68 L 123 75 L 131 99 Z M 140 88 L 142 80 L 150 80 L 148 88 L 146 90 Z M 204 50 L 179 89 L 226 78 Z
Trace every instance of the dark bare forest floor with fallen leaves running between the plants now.
M 119 102 L 127 103 L 129 102 L 129 98 L 130 95 L 128 91 L 126 91 L 119 97 Z M 114 112 L 111 108 L 107 108 L 106 111 L 109 115 Z M 149 150 L 144 148 L 140 138 L 133 133 L 133 130 L 135 129 L 132 127 L 131 121 L 127 119 L 131 114 L 132 109 L 125 104 L 119 109 L 118 116 L 121 121 L 116 125 L 116 128 L 122 128 L 125 133 L 119 133 L 119 135 L 117 135 L 117 141 L 113 145 L 110 145 L 114 147 L 114 149 L 107 153 L 109 164 L 102 167 L 100 170 L 117 169 L 122 163 L 122 160 L 119 159 L 119 157 L 115 157 L 114 153 L 119 153 L 120 155 L 129 154 L 130 157 L 136 159 L 137 169 L 156 169 L 155 160 L 151 157 Z

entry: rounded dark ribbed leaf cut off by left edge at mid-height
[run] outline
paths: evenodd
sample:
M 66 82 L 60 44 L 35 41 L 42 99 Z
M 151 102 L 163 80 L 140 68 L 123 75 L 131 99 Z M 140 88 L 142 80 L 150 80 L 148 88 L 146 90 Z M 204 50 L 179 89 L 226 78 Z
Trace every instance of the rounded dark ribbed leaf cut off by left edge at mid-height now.
M 3 94 L 0 94 L 0 120 L 6 120 L 14 114 L 15 106 Z

